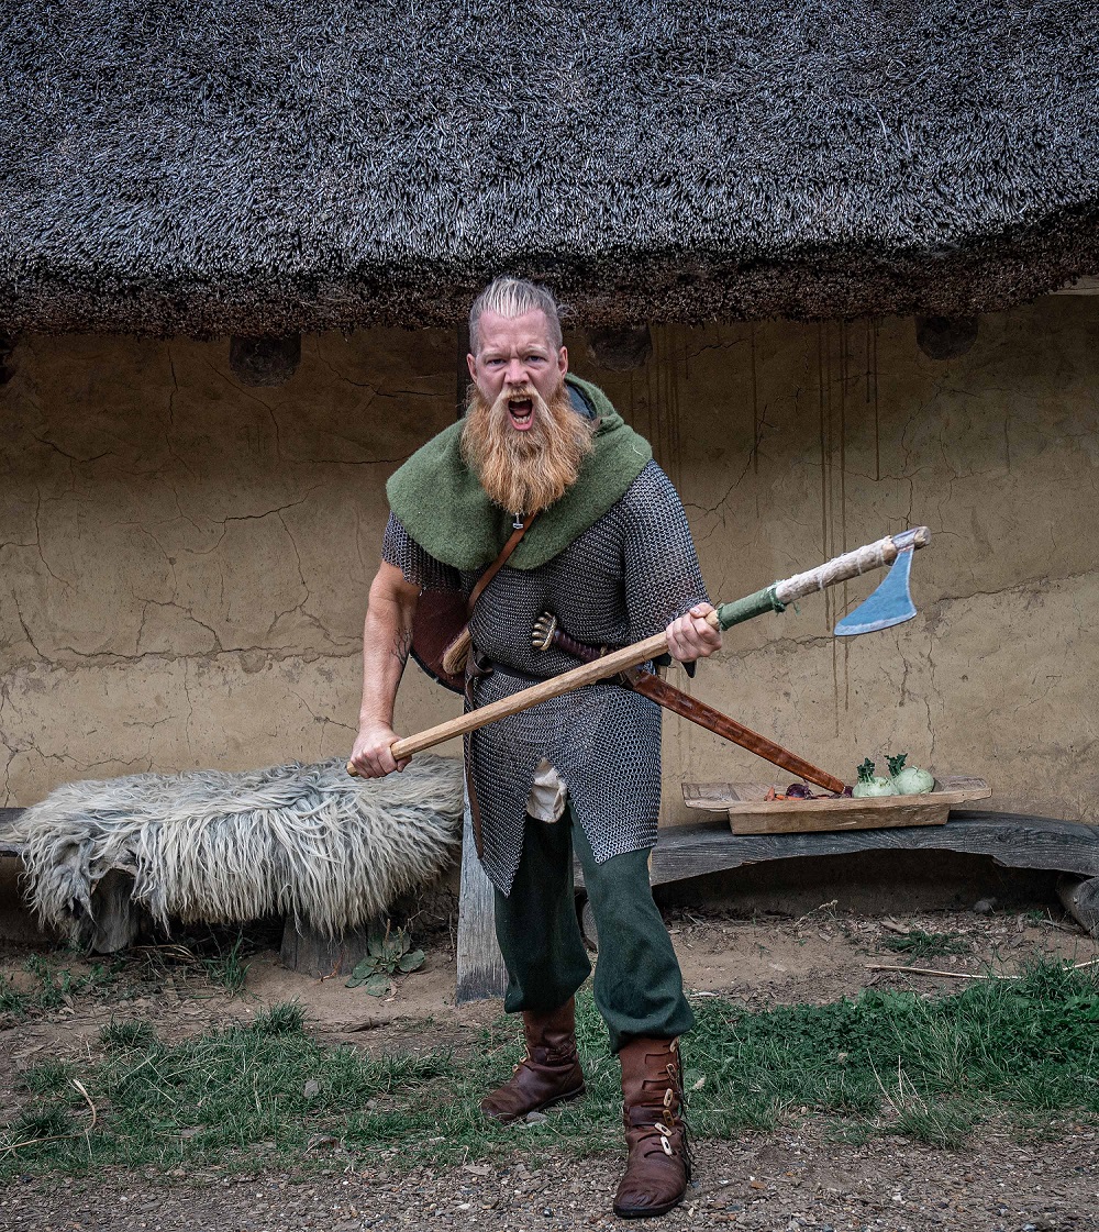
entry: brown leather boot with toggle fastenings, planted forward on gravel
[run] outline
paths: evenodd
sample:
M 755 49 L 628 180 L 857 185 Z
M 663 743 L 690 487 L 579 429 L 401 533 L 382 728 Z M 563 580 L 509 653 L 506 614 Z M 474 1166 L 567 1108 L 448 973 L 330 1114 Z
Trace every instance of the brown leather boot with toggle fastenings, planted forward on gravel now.
M 615 1215 L 643 1220 L 678 1206 L 691 1179 L 679 1041 L 638 1036 L 622 1047 L 618 1060 L 630 1158 L 615 1195 Z

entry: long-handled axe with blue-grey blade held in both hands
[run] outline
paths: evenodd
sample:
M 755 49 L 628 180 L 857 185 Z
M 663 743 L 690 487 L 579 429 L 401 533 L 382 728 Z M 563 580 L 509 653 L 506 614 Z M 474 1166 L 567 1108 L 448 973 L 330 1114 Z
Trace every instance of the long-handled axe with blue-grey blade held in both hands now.
M 858 578 L 871 569 L 880 569 L 891 564 L 893 569 L 886 574 L 882 584 L 875 593 L 861 604 L 849 616 L 845 616 L 835 628 L 841 637 L 850 637 L 858 633 L 870 633 L 876 630 L 891 628 L 893 625 L 902 625 L 915 616 L 915 604 L 908 589 L 908 579 L 912 572 L 912 554 L 918 547 L 925 547 L 930 542 L 931 532 L 927 526 L 917 526 L 912 530 L 902 531 L 899 535 L 887 535 L 874 543 L 855 548 L 854 552 L 844 552 L 817 568 L 806 573 L 796 573 L 792 578 L 774 582 L 755 594 L 745 595 L 731 604 L 720 604 L 706 621 L 713 628 L 732 628 L 745 620 L 763 616 L 766 612 L 782 612 L 790 604 L 806 595 L 834 586 L 839 582 Z M 898 562 L 899 573 L 894 570 Z M 866 610 L 869 609 L 869 616 Z M 552 697 L 562 697 L 573 689 L 583 685 L 591 685 L 607 676 L 616 676 L 649 659 L 655 659 L 668 649 L 668 634 L 660 632 L 647 637 L 642 642 L 632 646 L 623 646 L 620 650 L 612 650 L 591 663 L 583 663 L 570 671 L 564 671 L 559 676 L 551 676 L 529 689 L 521 689 L 510 697 L 501 697 L 499 701 L 489 702 L 478 710 L 471 710 L 460 718 L 448 719 L 429 727 L 416 736 L 409 736 L 403 740 L 395 740 L 392 747 L 393 756 L 402 761 L 423 753 L 424 749 L 442 744 L 455 736 L 464 736 L 467 732 L 476 732 L 479 727 L 487 727 L 500 718 L 517 715 L 520 711 L 537 706 L 540 701 L 548 701 Z M 357 774 L 349 763 L 347 772 Z

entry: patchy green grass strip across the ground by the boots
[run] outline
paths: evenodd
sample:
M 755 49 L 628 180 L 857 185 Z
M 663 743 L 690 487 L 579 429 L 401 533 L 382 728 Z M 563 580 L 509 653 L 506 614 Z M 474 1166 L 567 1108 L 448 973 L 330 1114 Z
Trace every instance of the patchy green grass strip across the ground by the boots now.
M 1099 1120 L 1092 971 L 1045 963 L 1018 981 L 975 982 L 938 998 L 871 989 L 764 1013 L 707 998 L 696 1013 L 685 1057 L 699 1137 L 812 1116 L 834 1140 L 891 1132 L 952 1147 L 993 1117 L 1028 1135 L 1065 1116 Z M 617 1143 L 621 1096 L 588 993 L 578 1030 L 586 1099 L 538 1125 L 503 1129 L 482 1119 L 477 1101 L 517 1060 L 510 1023 L 485 1030 L 462 1056 L 323 1046 L 297 1003 L 180 1042 L 115 1023 L 79 1074 L 99 1109 L 95 1127 L 68 1067 L 25 1072 L 23 1109 L 0 1133 L 0 1179 L 112 1164 L 308 1167 L 333 1152 L 344 1161 L 399 1152 L 403 1164 L 516 1148 L 589 1153 Z

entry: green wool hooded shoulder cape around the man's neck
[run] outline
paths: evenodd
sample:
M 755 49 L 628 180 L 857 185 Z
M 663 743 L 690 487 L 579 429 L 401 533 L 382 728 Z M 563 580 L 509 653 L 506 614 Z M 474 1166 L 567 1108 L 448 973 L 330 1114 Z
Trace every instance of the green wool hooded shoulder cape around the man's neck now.
M 568 547 L 626 494 L 653 456 L 649 442 L 626 424 L 601 389 L 572 373 L 564 379 L 595 409 L 594 448 L 572 488 L 524 535 L 508 561 L 515 569 L 536 569 Z M 500 554 L 511 533 L 511 514 L 488 499 L 462 460 L 461 439 L 458 420 L 391 476 L 386 494 L 425 552 L 456 569 L 478 569 Z

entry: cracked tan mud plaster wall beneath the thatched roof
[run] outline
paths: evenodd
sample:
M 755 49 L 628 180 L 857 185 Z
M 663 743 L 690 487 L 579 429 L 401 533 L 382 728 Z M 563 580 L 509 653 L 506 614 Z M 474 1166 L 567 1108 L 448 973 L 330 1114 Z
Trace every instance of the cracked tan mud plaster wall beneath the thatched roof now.
M 987 317 L 938 362 L 910 319 L 654 330 L 595 378 L 683 494 L 715 598 L 927 522 L 919 617 L 829 636 L 851 584 L 727 636 L 678 683 L 850 777 L 907 750 L 993 804 L 1099 821 L 1099 299 Z M 243 386 L 228 346 L 26 338 L 0 389 L 0 760 L 10 804 L 139 770 L 350 747 L 383 483 L 455 413 L 451 334 L 303 340 Z M 410 668 L 403 731 L 456 703 Z M 756 759 L 665 726 L 665 816 Z

